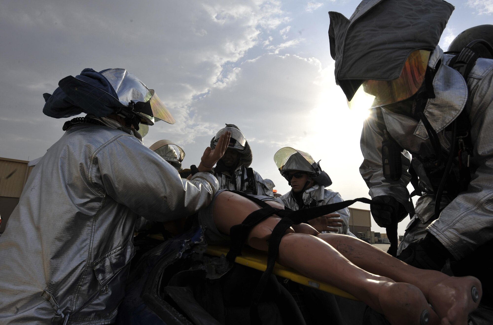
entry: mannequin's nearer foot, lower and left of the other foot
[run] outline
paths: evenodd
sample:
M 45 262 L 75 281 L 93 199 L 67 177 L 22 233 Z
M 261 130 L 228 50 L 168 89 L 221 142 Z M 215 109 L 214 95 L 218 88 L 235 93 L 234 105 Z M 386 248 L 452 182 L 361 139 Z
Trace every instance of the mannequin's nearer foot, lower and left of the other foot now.
M 438 325 L 438 316 L 417 287 L 408 283 L 387 283 L 379 291 L 382 312 L 392 325 Z

